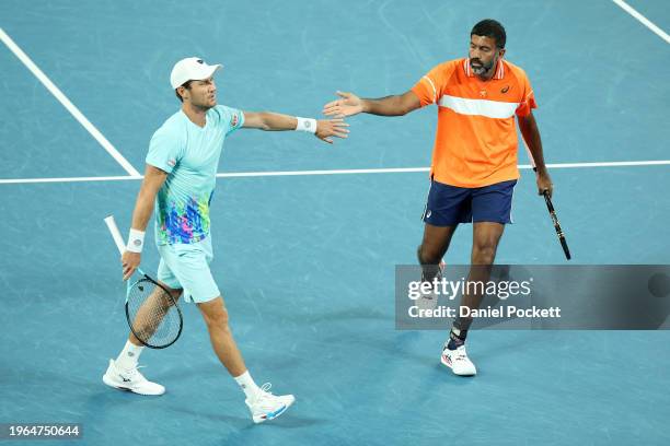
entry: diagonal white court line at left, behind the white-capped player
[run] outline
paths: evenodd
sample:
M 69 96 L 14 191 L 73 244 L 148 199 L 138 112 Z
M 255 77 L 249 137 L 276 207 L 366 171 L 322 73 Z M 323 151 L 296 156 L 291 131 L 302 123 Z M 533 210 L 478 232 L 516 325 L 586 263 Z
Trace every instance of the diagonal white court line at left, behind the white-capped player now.
M 35 62 L 33 62 L 31 58 L 27 57 L 27 55 L 23 52 L 21 48 L 19 48 L 19 45 L 16 45 L 2 28 L 0 28 L 0 40 L 2 40 L 2 43 L 7 45 L 14 56 L 16 56 L 19 60 L 21 60 L 21 62 L 23 62 L 23 64 L 31 70 L 35 78 L 42 82 L 42 84 L 58 99 L 58 102 L 60 102 L 60 104 L 62 104 L 62 106 L 70 111 L 74 119 L 77 119 L 93 138 L 95 138 L 95 140 L 107 151 L 107 153 L 109 153 L 112 157 L 114 157 L 114 160 L 122 165 L 124 171 L 126 171 L 130 176 L 138 178 L 141 177 L 141 174 L 137 172 L 130 163 L 128 163 L 128 160 L 126 160 L 124 155 L 122 155 L 118 150 L 116 150 L 116 148 L 112 145 L 109 141 L 107 141 L 100 130 L 97 130 L 81 111 L 79 111 L 79 108 L 77 108 L 74 104 L 68 99 L 68 97 L 54 84 L 54 82 L 51 82 L 49 78 L 47 78 L 47 75 L 35 64 Z

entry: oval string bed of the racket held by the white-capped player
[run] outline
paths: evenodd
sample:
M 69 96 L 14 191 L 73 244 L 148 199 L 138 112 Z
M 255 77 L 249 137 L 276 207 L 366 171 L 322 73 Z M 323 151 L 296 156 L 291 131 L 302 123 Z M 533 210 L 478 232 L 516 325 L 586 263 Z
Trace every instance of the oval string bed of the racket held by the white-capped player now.
M 168 347 L 180 334 L 181 316 L 175 301 L 147 278 L 130 287 L 127 312 L 132 332 L 147 345 Z

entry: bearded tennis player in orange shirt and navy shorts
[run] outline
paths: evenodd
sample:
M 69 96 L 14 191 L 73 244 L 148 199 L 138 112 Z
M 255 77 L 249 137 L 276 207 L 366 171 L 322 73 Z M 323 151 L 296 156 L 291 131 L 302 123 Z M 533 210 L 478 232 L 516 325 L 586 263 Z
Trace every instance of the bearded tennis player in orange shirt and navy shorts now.
M 495 20 L 477 23 L 470 35 L 467 58 L 438 64 L 408 92 L 377 99 L 337 92 L 324 106 L 328 116 L 368 113 L 402 116 L 429 104 L 438 108 L 438 128 L 430 166 L 430 191 L 418 248 L 423 280 L 440 278 L 440 261 L 460 223 L 473 223 L 469 281 L 488 281 L 505 225 L 511 223 L 513 187 L 519 178 L 515 116 L 536 166 L 538 191 L 552 193 L 542 142 L 532 109 L 533 90 L 519 67 L 504 60 L 506 33 Z M 437 305 L 437 294 L 424 296 Z M 482 295 L 464 293 L 461 306 L 477 308 Z M 441 362 L 454 374 L 473 376 L 465 339 L 470 317 L 454 320 Z

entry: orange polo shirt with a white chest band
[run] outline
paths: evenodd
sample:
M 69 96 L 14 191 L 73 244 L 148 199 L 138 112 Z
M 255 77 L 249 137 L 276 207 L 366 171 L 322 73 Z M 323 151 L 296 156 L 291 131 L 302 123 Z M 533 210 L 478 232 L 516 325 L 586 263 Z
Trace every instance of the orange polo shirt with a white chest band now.
M 515 115 L 536 107 L 525 72 L 499 60 L 494 78 L 481 81 L 469 59 L 440 63 L 412 89 L 438 106 L 430 175 L 458 187 L 483 187 L 519 178 Z

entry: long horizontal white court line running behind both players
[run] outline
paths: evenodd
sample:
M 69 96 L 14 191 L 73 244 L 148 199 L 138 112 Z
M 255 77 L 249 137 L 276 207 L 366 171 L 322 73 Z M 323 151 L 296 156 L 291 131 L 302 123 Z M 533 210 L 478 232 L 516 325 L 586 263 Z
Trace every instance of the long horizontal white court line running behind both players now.
M 602 163 L 558 163 L 547 164 L 548 168 L 584 168 L 584 167 L 633 167 L 670 165 L 670 160 L 658 161 L 611 161 Z M 520 164 L 520 169 L 531 169 L 530 164 Z M 334 171 L 280 171 L 280 172 L 224 172 L 217 174 L 218 178 L 240 177 L 273 177 L 273 176 L 309 176 L 309 175 L 349 175 L 349 174 L 397 174 L 413 172 L 429 172 L 429 167 L 397 168 L 350 168 Z M 119 181 L 142 179 L 141 176 L 107 176 L 107 177 L 72 177 L 72 178 L 15 178 L 0 179 L 0 185 L 36 184 L 36 183 L 80 183 L 80 181 Z

